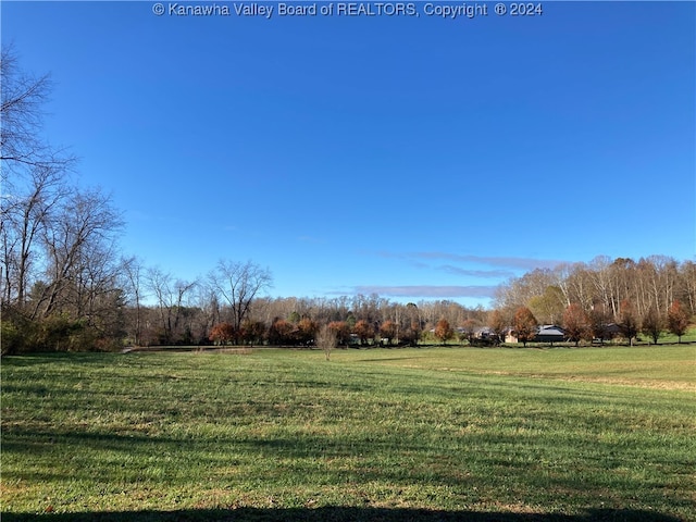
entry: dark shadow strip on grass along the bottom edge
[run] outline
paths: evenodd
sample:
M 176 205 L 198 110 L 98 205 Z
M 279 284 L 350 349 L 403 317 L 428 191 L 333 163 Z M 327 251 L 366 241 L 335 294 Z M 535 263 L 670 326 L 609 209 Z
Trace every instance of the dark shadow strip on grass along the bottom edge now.
M 487 513 L 474 511 L 436 511 L 425 509 L 386 508 L 289 508 L 289 509 L 191 509 L 182 511 L 122 511 L 83 513 L 2 513 L 3 522 L 51 520 L 57 522 L 194 522 L 194 521 L 261 521 L 261 522 L 682 522 L 670 515 L 631 509 L 596 509 L 585 514 Z

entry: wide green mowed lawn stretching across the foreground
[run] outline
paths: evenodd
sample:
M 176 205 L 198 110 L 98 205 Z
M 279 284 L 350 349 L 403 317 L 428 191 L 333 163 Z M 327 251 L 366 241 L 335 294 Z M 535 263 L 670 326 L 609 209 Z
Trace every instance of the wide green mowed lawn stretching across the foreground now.
M 696 346 L 2 359 L 2 520 L 696 520 Z

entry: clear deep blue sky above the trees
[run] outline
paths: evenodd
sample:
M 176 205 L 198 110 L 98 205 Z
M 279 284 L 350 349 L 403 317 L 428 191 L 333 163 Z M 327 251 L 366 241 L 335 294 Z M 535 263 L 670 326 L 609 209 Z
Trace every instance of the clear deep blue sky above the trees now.
M 455 20 L 154 3 L 1 4 L 2 44 L 52 75 L 47 138 L 148 265 L 251 260 L 272 296 L 487 306 L 558 262 L 694 259 L 694 2 Z

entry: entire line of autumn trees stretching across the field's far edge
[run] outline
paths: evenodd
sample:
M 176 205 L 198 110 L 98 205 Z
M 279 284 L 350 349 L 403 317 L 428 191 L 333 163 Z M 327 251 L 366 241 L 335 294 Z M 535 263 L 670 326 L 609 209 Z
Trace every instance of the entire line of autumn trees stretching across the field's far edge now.
M 377 295 L 264 297 L 273 277 L 252 261 L 221 260 L 192 281 L 181 279 L 121 253 L 123 220 L 110 197 L 77 183 L 75 158 L 41 139 L 50 77 L 23 72 L 11 48 L 1 52 L 0 73 L 3 353 L 154 345 L 413 345 L 424 337 L 473 340 L 483 327 L 496 339 L 514 330 L 526 341 L 533 338 L 530 325 L 539 323 L 582 331 L 577 339 L 598 336 L 592 324 L 633 324 L 625 331 L 631 339 L 641 328 L 666 330 L 674 323 L 674 307 L 687 323 L 696 313 L 696 265 L 664 256 L 637 262 L 599 257 L 535 270 L 501 285 L 490 311 L 448 300 L 402 304 Z

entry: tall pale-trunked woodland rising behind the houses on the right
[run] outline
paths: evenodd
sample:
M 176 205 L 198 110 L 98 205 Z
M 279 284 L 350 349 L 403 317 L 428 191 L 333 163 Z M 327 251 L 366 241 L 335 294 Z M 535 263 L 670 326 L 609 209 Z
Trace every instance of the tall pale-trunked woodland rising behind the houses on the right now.
M 599 256 L 537 269 L 500 285 L 495 308 L 523 343 L 539 324 L 563 326 L 575 344 L 616 336 L 633 344 L 639 333 L 657 344 L 668 331 L 681 341 L 696 314 L 696 263 Z

